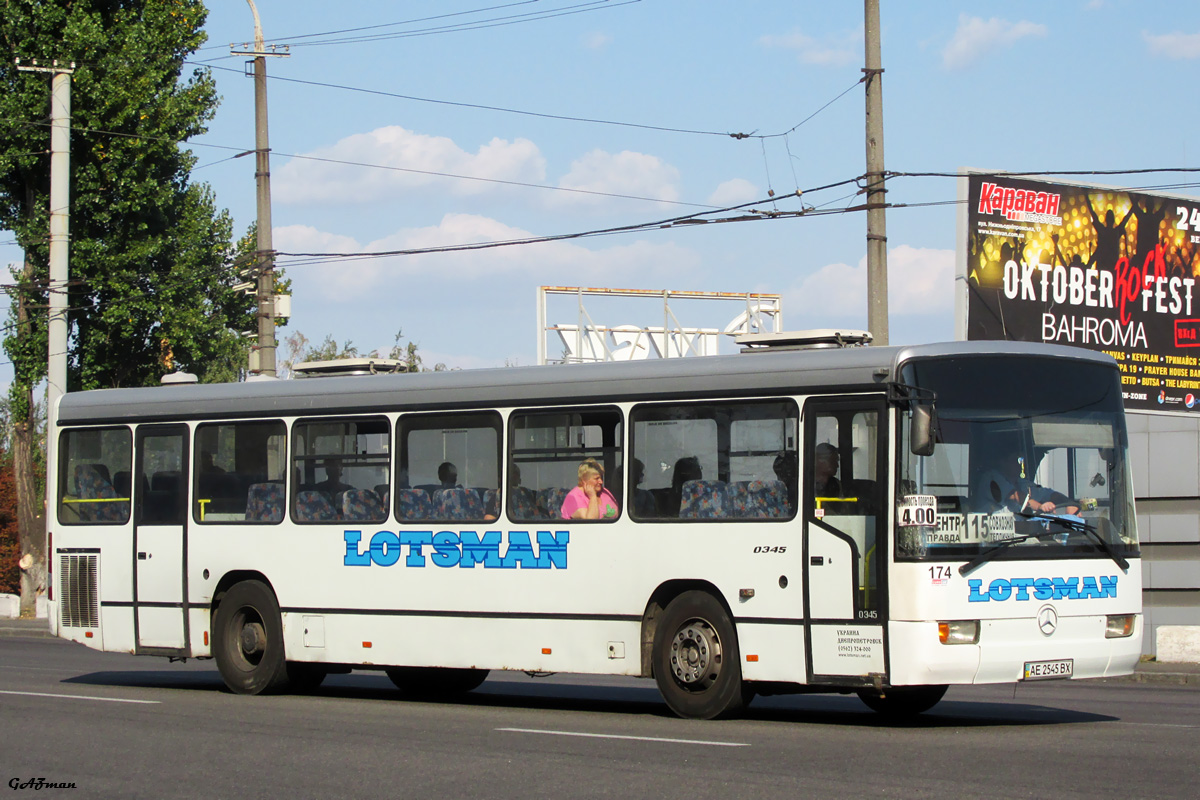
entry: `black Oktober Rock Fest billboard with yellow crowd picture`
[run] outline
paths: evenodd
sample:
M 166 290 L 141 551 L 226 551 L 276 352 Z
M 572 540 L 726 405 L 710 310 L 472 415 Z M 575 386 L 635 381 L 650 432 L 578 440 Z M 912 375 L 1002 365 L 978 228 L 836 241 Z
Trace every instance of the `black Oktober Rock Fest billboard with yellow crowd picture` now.
M 1127 409 L 1200 414 L 1200 200 L 962 182 L 960 336 L 1100 350 L 1121 366 Z

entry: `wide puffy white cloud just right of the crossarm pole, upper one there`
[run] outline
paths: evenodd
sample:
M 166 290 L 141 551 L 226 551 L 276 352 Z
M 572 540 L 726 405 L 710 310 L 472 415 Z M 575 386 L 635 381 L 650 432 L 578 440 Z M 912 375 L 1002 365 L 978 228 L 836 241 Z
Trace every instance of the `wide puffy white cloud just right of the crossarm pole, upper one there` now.
M 492 139 L 470 154 L 446 137 L 414 133 L 400 126 L 358 133 L 304 155 L 328 161 L 293 158 L 276 169 L 274 197 L 277 203 L 370 203 L 414 187 L 443 188 L 460 196 L 500 187 L 427 173 L 523 182 L 542 182 L 546 178 L 546 160 L 538 145 L 528 139 Z M 335 161 L 394 169 L 331 163 Z

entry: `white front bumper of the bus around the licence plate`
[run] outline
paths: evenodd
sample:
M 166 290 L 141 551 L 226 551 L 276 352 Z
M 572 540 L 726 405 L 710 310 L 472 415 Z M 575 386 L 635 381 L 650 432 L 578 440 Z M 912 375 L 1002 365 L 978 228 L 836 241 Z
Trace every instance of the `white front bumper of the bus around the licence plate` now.
M 1072 679 L 1128 675 L 1141 656 L 1142 618 L 1139 614 L 1133 634 L 1122 638 L 1105 638 L 1105 622 L 1103 614 L 1062 616 L 1048 636 L 1032 618 L 982 620 L 978 644 L 942 644 L 936 621 L 893 621 L 889 682 L 1012 684 L 1026 680 L 1026 664 L 1048 662 L 1055 669 L 1042 672 L 1052 674 L 1069 662 Z

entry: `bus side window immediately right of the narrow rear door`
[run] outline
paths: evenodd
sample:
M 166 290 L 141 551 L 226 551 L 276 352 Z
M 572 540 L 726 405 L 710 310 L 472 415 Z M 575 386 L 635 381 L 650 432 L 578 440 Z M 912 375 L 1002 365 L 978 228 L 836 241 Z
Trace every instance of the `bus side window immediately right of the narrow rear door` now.
M 282 421 L 198 426 L 193 452 L 196 522 L 283 521 L 287 427 Z

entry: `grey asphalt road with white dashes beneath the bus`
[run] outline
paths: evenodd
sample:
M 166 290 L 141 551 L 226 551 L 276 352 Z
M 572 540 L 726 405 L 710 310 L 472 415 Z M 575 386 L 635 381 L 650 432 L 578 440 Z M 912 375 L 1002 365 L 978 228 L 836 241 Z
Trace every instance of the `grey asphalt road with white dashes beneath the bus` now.
M 678 720 L 652 681 L 498 674 L 452 702 L 385 676 L 228 693 L 212 662 L 0 639 L 0 792 L 110 798 L 1194 798 L 1200 691 L 954 687 L 908 724 L 853 696 Z

